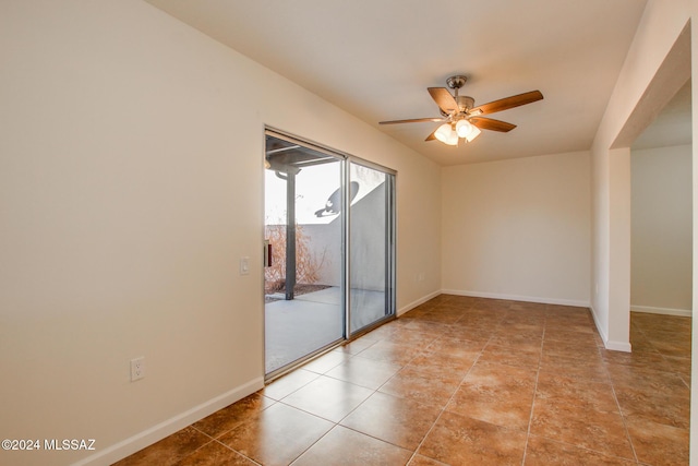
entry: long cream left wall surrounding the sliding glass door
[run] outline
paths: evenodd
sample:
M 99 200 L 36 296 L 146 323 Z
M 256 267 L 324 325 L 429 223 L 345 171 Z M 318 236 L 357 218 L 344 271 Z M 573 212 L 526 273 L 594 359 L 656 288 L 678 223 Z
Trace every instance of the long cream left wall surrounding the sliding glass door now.
M 398 308 L 438 291 L 437 166 L 152 5 L 2 1 L 0 57 L 0 430 L 98 449 L 1 464 L 107 464 L 261 386 L 264 124 L 397 170 Z

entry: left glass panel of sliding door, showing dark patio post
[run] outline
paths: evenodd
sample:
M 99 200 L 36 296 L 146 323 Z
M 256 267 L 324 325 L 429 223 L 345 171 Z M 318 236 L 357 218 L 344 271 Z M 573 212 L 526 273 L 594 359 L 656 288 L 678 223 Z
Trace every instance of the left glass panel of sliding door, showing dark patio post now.
M 267 377 L 345 338 L 342 164 L 267 134 Z

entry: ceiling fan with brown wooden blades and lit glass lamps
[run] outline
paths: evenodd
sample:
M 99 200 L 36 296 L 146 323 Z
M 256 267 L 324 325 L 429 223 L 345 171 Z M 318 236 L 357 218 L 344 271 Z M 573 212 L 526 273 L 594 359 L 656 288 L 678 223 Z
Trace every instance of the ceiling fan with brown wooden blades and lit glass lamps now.
M 452 95 L 446 87 L 428 88 L 429 94 L 441 110 L 441 118 L 390 120 L 381 121 L 378 124 L 421 123 L 426 121 L 443 122 L 443 124 L 426 136 L 425 141 L 438 140 L 444 144 L 458 145 L 461 138 L 468 142 L 476 139 L 480 134 L 480 130 L 506 133 L 516 128 L 516 124 L 492 118 L 484 118 L 482 117 L 483 115 L 508 110 L 509 108 L 531 104 L 543 98 L 543 94 L 541 94 L 540 91 L 531 91 L 476 107 L 476 100 L 472 97 L 458 95 L 458 89 L 466 84 L 466 81 L 468 81 L 468 77 L 464 75 L 450 76 L 446 80 L 446 84 L 455 91 L 455 95 Z

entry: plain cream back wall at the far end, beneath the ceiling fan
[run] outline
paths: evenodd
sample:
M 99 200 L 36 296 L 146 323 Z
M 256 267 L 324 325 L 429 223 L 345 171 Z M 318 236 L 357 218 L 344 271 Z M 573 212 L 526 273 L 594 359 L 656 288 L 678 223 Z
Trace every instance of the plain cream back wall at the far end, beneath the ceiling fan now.
M 589 306 L 589 153 L 444 168 L 446 292 Z

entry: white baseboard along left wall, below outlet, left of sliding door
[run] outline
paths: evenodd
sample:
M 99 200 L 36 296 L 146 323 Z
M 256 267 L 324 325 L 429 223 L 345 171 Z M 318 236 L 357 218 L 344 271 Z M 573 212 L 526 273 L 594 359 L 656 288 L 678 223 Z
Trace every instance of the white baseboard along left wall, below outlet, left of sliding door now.
M 142 450 L 168 435 L 190 426 L 226 406 L 244 398 L 264 387 L 264 378 L 254 379 L 243 385 L 204 402 L 193 408 L 167 419 L 149 429 L 115 443 L 98 453 L 74 463 L 73 466 L 107 466 Z

